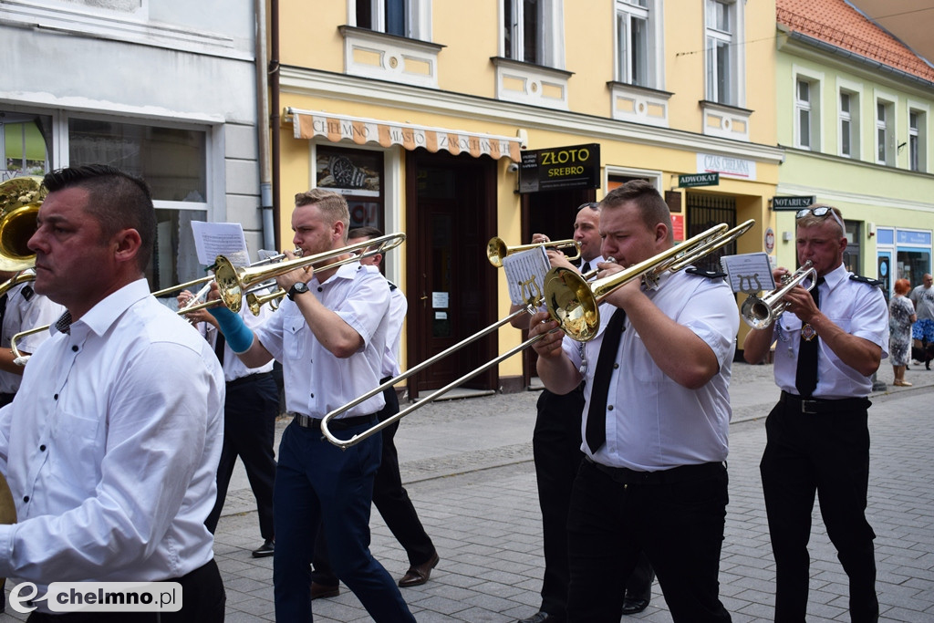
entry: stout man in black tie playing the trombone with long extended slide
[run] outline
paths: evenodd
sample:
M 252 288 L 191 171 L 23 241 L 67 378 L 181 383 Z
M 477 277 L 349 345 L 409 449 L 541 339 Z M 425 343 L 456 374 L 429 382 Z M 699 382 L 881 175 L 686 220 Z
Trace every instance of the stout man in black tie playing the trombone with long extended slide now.
M 668 205 L 644 180 L 601 202 L 601 276 L 673 247 Z M 664 273 L 608 294 L 591 341 L 531 320 L 538 373 L 555 393 L 585 381 L 582 449 L 568 517 L 568 619 L 614 621 L 644 552 L 675 621 L 729 621 L 718 597 L 727 505 L 729 376 L 739 319 L 720 279 Z M 554 332 L 554 333 L 549 333 Z M 618 343 L 616 342 L 618 340 Z

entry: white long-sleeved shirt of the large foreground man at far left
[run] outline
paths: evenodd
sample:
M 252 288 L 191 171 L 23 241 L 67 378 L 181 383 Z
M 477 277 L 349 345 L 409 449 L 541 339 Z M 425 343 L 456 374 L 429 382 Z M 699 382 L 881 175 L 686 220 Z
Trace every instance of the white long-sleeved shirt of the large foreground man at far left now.
M 0 410 L 19 517 L 0 526 L 0 576 L 43 595 L 50 582 L 177 578 L 212 559 L 223 400 L 214 353 L 145 279 L 53 330 Z

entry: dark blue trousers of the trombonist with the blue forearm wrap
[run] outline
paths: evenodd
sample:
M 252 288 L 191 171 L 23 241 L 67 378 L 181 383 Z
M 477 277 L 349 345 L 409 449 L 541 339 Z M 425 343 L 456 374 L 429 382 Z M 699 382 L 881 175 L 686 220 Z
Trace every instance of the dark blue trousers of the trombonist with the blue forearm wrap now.
M 349 438 L 369 428 L 340 433 Z M 276 620 L 311 621 L 311 561 L 323 522 L 334 572 L 375 621 L 415 621 L 389 573 L 370 552 L 370 508 L 381 444 L 374 435 L 342 450 L 320 431 L 286 428 L 276 470 Z

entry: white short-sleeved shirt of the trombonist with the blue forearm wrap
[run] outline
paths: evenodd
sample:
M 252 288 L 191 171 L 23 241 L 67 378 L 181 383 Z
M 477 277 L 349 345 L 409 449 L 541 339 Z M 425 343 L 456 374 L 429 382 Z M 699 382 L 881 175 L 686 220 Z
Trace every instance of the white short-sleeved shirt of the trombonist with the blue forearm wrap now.
M 286 409 L 323 418 L 379 385 L 389 325 L 389 287 L 375 266 L 348 262 L 324 283 L 313 276 L 308 291 L 360 333 L 360 351 L 343 359 L 335 357 L 308 328 L 298 304 L 288 299 L 254 333 L 282 362 Z M 339 418 L 370 415 L 385 404 L 383 394 L 378 393 Z

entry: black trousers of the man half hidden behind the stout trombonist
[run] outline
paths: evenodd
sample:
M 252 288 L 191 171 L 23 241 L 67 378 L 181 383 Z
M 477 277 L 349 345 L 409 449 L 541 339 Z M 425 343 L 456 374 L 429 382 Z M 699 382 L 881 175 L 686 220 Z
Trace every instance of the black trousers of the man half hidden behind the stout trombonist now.
M 535 460 L 538 503 L 542 509 L 542 539 L 545 552 L 545 575 L 542 579 L 541 611 L 565 616 L 568 603 L 568 509 L 574 478 L 584 453 L 581 452 L 581 416 L 584 393 L 575 389 L 559 395 L 543 389 L 536 404 L 538 416 L 531 445 Z M 652 596 L 655 573 L 645 556 L 625 581 L 626 592 L 633 599 Z M 617 586 L 622 595 L 623 584 Z

